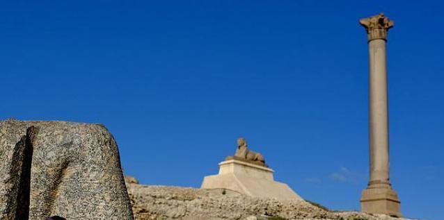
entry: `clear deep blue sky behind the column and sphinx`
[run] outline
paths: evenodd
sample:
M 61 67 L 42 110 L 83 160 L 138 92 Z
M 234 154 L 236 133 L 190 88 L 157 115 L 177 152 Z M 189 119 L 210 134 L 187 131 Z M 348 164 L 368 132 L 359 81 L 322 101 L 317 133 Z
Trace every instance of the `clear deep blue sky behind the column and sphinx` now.
M 303 198 L 358 210 L 367 40 L 386 12 L 391 181 L 444 217 L 441 1 L 1 1 L 0 117 L 102 123 L 126 174 L 199 187 L 246 137 Z

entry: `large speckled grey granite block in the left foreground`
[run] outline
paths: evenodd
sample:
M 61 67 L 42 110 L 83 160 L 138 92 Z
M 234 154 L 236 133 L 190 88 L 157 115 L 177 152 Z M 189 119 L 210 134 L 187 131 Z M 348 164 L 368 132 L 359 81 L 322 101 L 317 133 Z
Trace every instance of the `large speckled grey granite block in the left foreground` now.
M 0 121 L 0 219 L 28 214 L 134 219 L 117 144 L 104 126 Z

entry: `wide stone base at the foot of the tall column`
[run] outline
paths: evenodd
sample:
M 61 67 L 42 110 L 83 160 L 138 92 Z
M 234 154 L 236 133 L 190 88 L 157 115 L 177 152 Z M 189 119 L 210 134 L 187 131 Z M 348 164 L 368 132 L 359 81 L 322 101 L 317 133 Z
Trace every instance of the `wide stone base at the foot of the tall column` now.
M 388 214 L 392 217 L 402 217 L 400 210 L 401 201 L 395 190 L 388 187 L 374 187 L 369 185 L 363 190 L 360 198 L 362 212 L 373 214 Z

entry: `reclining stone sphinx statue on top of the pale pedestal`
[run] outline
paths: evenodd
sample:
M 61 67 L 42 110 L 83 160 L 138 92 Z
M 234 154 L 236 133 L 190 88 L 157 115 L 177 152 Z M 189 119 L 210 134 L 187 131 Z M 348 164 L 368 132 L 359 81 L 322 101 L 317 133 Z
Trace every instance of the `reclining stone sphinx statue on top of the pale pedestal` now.
M 250 151 L 248 145 L 246 144 L 246 139 L 244 137 L 239 137 L 237 139 L 237 150 L 234 156 L 229 156 L 226 160 L 242 160 L 244 162 L 251 162 L 263 167 L 268 167 L 265 164 L 265 159 L 260 153 Z

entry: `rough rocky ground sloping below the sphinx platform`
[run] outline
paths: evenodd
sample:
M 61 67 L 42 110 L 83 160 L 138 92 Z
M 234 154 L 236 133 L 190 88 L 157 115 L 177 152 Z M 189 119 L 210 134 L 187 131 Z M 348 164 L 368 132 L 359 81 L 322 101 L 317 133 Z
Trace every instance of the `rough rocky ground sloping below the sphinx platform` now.
M 251 198 L 224 189 L 139 185 L 134 178 L 126 180 L 136 220 L 396 219 L 360 212 L 329 212 L 305 201 Z

